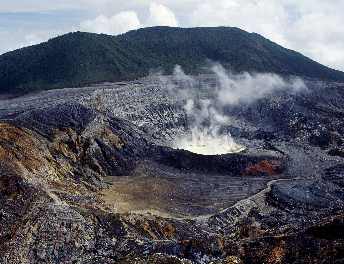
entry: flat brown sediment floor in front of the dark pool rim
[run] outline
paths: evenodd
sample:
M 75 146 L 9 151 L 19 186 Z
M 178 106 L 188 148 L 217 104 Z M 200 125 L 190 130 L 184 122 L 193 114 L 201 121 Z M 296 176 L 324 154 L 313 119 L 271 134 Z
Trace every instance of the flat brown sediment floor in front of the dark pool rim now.
M 187 175 L 189 174 L 189 175 Z M 191 178 L 190 178 L 191 177 Z M 152 212 L 193 218 L 221 211 L 257 194 L 279 177 L 228 177 L 180 172 L 169 175 L 109 177 L 113 187 L 102 199 L 121 212 Z

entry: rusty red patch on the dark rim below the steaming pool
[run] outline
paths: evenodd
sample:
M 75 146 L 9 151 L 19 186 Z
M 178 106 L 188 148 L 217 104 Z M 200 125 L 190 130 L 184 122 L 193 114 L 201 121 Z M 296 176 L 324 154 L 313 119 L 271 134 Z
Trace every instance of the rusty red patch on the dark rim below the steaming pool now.
M 249 164 L 241 173 L 243 176 L 251 175 L 276 175 L 283 165 L 271 159 L 263 159 L 258 163 Z

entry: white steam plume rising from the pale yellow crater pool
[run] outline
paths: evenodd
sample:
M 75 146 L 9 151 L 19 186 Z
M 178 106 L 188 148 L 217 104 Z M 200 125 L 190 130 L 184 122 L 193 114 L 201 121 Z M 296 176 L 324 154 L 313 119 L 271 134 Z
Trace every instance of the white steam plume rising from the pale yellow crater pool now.
M 299 78 L 290 82 L 272 73 L 239 74 L 228 72 L 222 65 L 213 63 L 212 70 L 218 79 L 216 98 L 194 100 L 190 87 L 180 87 L 164 79 L 164 85 L 169 90 L 178 89 L 185 99 L 184 110 L 189 121 L 189 133 L 182 139 L 175 139 L 173 148 L 183 148 L 200 154 L 224 154 L 238 151 L 241 148 L 228 132 L 222 132 L 222 126 L 230 122 L 223 108 L 237 104 L 248 104 L 258 98 L 267 96 L 279 90 L 298 90 L 305 88 Z M 176 65 L 173 70 L 174 80 L 194 83 L 191 76 L 184 74 L 181 66 Z M 191 86 L 192 87 L 192 86 Z

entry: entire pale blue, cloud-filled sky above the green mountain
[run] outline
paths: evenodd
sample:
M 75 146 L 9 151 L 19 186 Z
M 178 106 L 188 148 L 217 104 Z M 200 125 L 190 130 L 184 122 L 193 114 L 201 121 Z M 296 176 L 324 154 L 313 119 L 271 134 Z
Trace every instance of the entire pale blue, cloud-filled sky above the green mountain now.
M 0 0 L 0 54 L 73 31 L 236 26 L 344 71 L 343 0 Z

